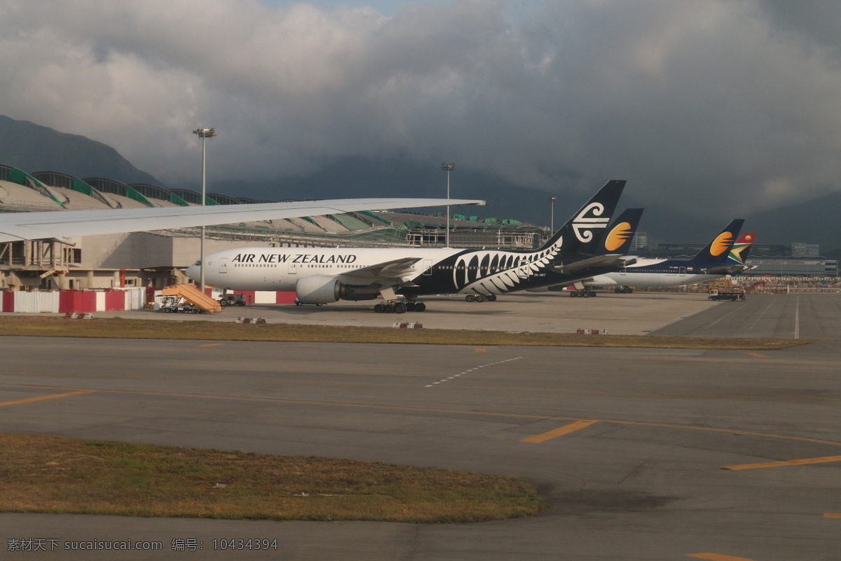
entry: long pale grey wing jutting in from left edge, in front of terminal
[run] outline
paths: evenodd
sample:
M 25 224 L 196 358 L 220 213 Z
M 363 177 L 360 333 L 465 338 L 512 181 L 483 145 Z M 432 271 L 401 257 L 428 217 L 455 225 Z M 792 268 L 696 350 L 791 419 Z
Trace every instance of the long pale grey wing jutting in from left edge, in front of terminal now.
M 318 201 L 145 209 L 56 210 L 0 213 L 0 242 L 121 234 L 254 220 L 341 214 L 357 210 L 412 209 L 484 201 L 457 198 L 335 198 Z

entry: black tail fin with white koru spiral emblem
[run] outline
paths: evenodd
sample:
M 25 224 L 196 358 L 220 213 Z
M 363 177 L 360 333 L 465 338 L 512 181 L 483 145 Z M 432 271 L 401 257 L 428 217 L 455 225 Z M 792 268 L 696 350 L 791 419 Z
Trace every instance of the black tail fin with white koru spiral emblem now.
M 538 251 L 558 251 L 563 253 L 590 254 L 596 251 L 604 237 L 607 223 L 611 221 L 613 211 L 619 202 L 626 180 L 613 179 L 600 188 L 572 218 L 567 220 L 545 246 Z

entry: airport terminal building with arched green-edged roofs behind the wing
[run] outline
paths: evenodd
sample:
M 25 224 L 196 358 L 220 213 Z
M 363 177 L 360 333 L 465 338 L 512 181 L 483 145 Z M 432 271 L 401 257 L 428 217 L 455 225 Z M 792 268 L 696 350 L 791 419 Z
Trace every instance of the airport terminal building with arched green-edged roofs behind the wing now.
M 61 172 L 24 172 L 0 165 L 0 212 L 131 209 L 201 205 L 201 193 L 149 184 L 127 185 Z M 252 204 L 208 193 L 205 204 Z M 452 214 L 450 245 L 531 249 L 547 232 L 516 220 Z M 205 251 L 241 246 L 443 247 L 447 216 L 362 211 L 206 228 Z M 0 290 L 155 287 L 185 283 L 200 254 L 198 228 L 66 240 L 0 244 Z

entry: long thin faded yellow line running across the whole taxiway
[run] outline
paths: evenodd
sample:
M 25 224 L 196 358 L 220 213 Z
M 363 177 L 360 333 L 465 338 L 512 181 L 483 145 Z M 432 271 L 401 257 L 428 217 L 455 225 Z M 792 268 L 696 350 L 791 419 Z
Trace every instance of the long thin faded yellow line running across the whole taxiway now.
M 5 388 L 34 388 L 34 389 L 66 389 L 61 386 L 37 386 L 31 384 L 0 384 L 0 387 Z M 581 421 L 580 417 L 563 417 L 559 415 L 532 415 L 528 413 L 500 413 L 499 411 L 476 411 L 476 410 L 460 410 L 460 409 L 436 409 L 432 407 L 404 407 L 400 405 L 373 405 L 364 403 L 340 403 L 338 401 L 310 401 L 310 400 L 281 400 L 278 398 L 266 397 L 245 397 L 237 395 L 210 395 L 210 394 L 177 394 L 168 392 L 153 392 L 140 391 L 130 389 L 87 389 L 82 393 L 98 392 L 100 394 L 119 394 L 119 395 L 151 395 L 156 397 L 177 397 L 190 398 L 195 400 L 227 400 L 227 401 L 246 401 L 255 403 L 278 403 L 287 405 L 324 405 L 327 407 L 347 407 L 355 409 L 369 409 L 369 410 L 391 410 L 391 411 L 419 411 L 424 413 L 443 413 L 447 415 L 471 415 L 471 416 L 485 416 L 485 417 L 499 417 L 505 419 L 552 419 L 553 421 Z M 76 393 L 76 392 L 74 392 Z M 599 421 L 603 423 L 612 423 L 614 425 L 628 425 L 628 426 L 653 426 L 658 428 L 674 428 L 688 431 L 707 431 L 707 432 L 723 432 L 727 434 L 738 434 L 747 437 L 764 437 L 764 438 L 780 438 L 783 440 L 794 440 L 797 442 L 812 442 L 816 444 L 827 444 L 828 446 L 839 446 L 841 442 L 832 440 L 819 440 L 817 438 L 807 437 L 792 437 L 791 435 L 772 434 L 770 432 L 754 432 L 754 431 L 740 431 L 738 429 L 714 428 L 711 426 L 691 426 L 691 425 L 670 425 L 667 423 L 651 423 L 643 421 L 622 421 L 621 419 L 593 419 L 592 421 Z

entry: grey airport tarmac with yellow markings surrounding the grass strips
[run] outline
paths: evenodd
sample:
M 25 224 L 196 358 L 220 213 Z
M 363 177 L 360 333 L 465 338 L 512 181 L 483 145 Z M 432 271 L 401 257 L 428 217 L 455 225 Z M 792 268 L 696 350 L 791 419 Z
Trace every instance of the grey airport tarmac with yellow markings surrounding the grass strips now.
M 515 474 L 553 508 L 430 525 L 7 513 L 0 557 L 841 558 L 841 294 L 427 304 L 399 316 L 368 304 L 119 315 L 817 341 L 744 352 L 2 337 L 4 432 Z M 135 549 L 78 549 L 109 541 Z M 14 550 L 24 542 L 44 550 Z

